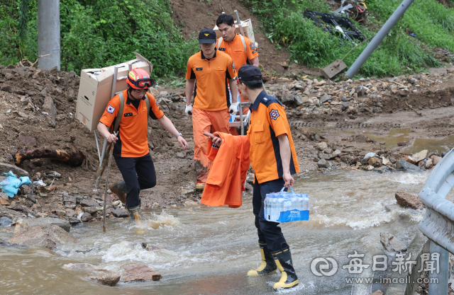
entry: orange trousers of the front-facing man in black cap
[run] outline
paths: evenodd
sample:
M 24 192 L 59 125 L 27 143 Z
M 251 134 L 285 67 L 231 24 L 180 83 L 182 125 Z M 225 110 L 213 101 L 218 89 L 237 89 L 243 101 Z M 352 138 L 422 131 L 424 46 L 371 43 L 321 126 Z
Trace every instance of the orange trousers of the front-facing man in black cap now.
M 194 135 L 194 160 L 196 168 L 196 181 L 206 183 L 211 161 L 206 156 L 208 149 L 208 138 L 204 132 L 223 132 L 228 133 L 228 120 L 230 115 L 226 110 L 199 110 L 192 108 L 192 132 Z

